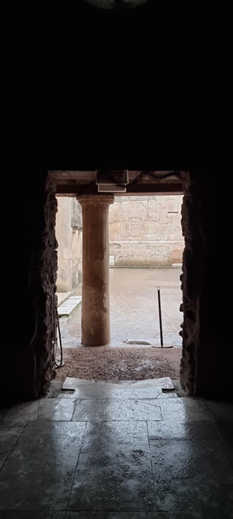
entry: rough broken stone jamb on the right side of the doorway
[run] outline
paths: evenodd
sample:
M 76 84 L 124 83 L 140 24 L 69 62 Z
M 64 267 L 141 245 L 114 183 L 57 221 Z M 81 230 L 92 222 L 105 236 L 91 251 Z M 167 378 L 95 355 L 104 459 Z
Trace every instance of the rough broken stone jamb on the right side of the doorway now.
M 181 210 L 182 234 L 185 240 L 181 289 L 184 319 L 181 384 L 188 394 L 196 394 L 197 348 L 199 345 L 199 302 L 205 265 L 205 237 L 201 229 L 201 182 L 197 175 L 182 174 L 184 198 Z

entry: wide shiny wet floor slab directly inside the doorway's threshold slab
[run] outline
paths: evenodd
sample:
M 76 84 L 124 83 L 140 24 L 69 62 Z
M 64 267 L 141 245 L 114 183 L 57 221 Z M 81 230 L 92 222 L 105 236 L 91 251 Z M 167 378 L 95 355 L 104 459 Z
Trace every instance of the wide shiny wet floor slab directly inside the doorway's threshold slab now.
M 157 400 L 150 403 L 142 400 L 80 400 L 72 420 L 162 420 L 161 407 Z

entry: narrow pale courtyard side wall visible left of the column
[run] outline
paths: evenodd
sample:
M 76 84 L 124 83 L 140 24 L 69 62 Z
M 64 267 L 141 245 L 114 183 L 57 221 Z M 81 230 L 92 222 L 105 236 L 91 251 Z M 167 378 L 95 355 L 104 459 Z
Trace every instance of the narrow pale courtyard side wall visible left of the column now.
M 57 197 L 57 292 L 69 292 L 82 280 L 81 206 L 76 198 Z

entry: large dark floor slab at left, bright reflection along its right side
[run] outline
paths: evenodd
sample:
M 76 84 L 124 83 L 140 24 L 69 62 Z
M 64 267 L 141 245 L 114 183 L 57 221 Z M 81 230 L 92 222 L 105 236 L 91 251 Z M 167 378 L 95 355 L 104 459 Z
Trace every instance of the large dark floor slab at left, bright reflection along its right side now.
M 1 508 L 65 510 L 84 428 L 75 422 L 29 422 L 0 472 Z

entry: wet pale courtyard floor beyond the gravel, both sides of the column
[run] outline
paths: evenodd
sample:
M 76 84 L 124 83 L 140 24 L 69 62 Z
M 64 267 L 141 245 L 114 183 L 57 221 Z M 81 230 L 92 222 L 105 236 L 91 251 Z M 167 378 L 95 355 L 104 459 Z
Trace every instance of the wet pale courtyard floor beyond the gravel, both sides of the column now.
M 181 345 L 180 268 L 111 268 L 111 343 L 143 340 L 159 343 L 157 286 L 161 287 L 164 342 Z M 80 290 L 74 295 L 80 295 Z M 81 307 L 62 322 L 64 347 L 81 344 Z

